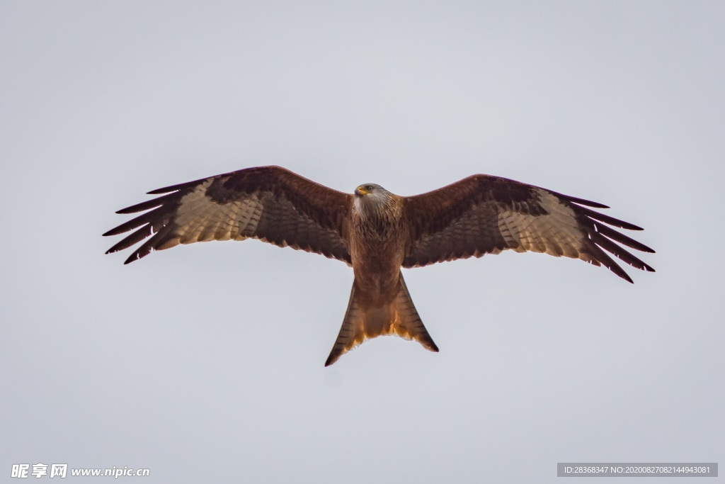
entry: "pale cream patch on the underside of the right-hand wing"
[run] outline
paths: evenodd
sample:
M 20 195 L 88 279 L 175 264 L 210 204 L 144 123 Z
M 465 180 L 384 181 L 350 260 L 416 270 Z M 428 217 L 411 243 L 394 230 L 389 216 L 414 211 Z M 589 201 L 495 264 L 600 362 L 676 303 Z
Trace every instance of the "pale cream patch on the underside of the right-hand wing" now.
M 504 240 L 516 252 L 547 253 L 559 257 L 579 258 L 581 229 L 574 211 L 558 197 L 537 189 L 537 196 L 548 215 L 530 216 L 511 211 L 502 212 L 498 226 Z

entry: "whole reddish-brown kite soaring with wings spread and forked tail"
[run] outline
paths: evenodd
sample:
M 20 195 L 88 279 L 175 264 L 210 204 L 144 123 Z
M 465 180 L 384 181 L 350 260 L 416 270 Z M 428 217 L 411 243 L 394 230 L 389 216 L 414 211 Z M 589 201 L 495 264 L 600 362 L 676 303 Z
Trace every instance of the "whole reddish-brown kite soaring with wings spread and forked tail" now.
M 579 258 L 629 282 L 607 252 L 654 271 L 621 245 L 654 250 L 610 226 L 642 229 L 587 208 L 606 205 L 498 176 L 473 175 L 433 192 L 401 197 L 376 184 L 362 184 L 346 194 L 285 168 L 263 166 L 149 194 L 161 196 L 118 210 L 145 213 L 104 234 L 134 230 L 107 253 L 148 238 L 125 263 L 178 244 L 252 238 L 352 266 L 355 280 L 347 313 L 325 366 L 381 335 L 398 335 L 438 351 L 401 268 L 510 249 Z

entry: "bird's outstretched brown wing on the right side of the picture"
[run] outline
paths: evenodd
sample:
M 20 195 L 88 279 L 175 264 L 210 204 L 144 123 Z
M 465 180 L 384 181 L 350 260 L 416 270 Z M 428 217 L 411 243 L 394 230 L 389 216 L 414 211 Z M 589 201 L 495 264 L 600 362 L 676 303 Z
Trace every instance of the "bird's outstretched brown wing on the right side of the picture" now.
M 608 208 L 497 176 L 470 176 L 405 199 L 411 239 L 403 267 L 481 257 L 506 249 L 531 250 L 602 265 L 632 282 L 606 250 L 630 266 L 654 271 L 616 242 L 643 252 L 654 250 L 610 226 L 642 229 L 587 207 Z

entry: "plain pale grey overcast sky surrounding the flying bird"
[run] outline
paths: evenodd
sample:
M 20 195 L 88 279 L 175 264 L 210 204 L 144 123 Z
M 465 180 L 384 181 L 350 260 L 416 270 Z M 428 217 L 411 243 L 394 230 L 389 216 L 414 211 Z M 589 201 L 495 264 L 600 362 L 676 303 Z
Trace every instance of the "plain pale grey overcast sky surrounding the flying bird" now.
M 0 480 L 722 464 L 724 25 L 721 1 L 2 1 Z M 405 271 L 440 353 L 378 338 L 324 368 L 344 264 L 257 241 L 104 255 L 145 192 L 267 164 L 344 192 L 490 173 L 597 200 L 645 227 L 657 272 Z

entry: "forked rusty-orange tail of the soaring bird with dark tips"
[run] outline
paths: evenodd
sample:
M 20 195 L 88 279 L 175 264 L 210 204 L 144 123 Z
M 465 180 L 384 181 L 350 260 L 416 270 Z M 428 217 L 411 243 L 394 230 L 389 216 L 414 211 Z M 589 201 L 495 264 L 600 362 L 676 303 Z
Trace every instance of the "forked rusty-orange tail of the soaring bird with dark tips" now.
M 438 351 L 436 343 L 423 326 L 421 316 L 418 316 L 418 311 L 415 310 L 402 274 L 395 299 L 386 305 L 363 308 L 355 296 L 355 284 L 352 285 L 347 313 L 325 366 L 330 366 L 344 353 L 365 340 L 384 335 L 397 335 L 406 340 L 415 340 L 428 350 Z

